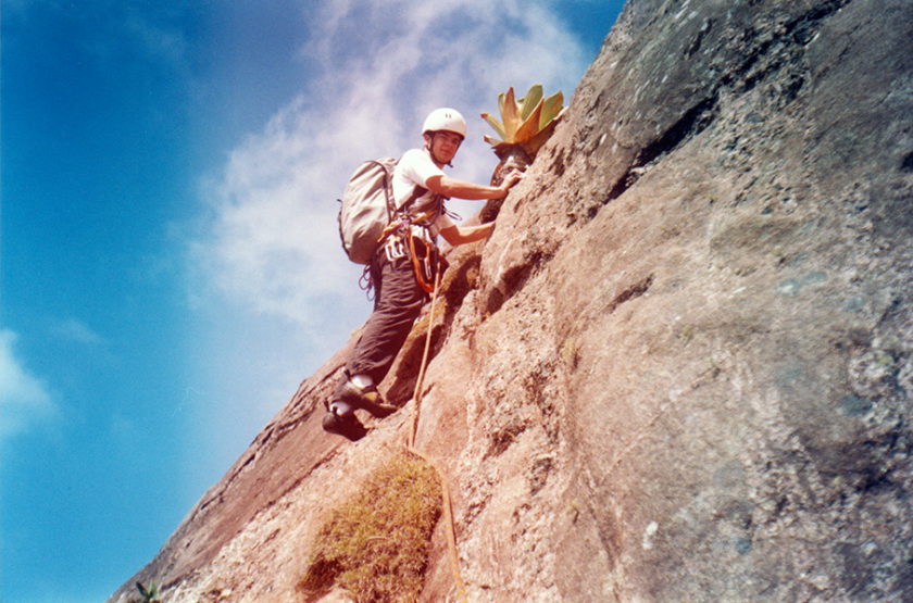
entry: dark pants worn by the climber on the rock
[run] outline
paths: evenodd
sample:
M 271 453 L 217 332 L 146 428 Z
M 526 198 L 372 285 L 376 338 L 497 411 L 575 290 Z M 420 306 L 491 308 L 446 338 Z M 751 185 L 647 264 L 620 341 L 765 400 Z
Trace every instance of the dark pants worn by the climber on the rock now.
M 349 375 L 368 375 L 379 384 L 405 343 L 428 294 L 415 280 L 412 261 L 408 256 L 391 261 L 383 247 L 371 263 L 371 282 L 374 312 L 346 367 Z

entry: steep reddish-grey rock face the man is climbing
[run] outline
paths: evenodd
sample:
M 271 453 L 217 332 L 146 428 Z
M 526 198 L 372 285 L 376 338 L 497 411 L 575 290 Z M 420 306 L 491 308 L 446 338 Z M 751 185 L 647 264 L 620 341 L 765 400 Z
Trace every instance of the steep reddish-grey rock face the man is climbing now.
M 909 0 L 631 0 L 449 259 L 416 448 L 470 601 L 913 601 Z M 110 601 L 302 601 L 326 510 L 411 429 L 428 322 L 402 411 L 324 435 L 341 350 Z

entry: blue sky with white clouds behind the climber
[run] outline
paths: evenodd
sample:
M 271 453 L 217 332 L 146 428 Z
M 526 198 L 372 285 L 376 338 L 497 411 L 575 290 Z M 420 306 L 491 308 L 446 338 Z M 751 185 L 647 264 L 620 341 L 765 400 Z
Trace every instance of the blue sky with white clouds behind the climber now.
M 103 601 L 367 316 L 335 199 L 621 1 L 3 0 L 0 600 Z M 458 205 L 467 216 L 477 205 Z

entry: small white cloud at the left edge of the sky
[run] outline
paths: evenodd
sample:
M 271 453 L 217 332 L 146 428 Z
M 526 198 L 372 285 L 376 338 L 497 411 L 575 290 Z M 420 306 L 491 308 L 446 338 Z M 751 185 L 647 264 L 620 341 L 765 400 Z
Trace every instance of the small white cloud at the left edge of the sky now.
M 32 375 L 15 354 L 17 336 L 0 331 L 0 432 L 3 439 L 48 425 L 60 410 L 48 385 Z

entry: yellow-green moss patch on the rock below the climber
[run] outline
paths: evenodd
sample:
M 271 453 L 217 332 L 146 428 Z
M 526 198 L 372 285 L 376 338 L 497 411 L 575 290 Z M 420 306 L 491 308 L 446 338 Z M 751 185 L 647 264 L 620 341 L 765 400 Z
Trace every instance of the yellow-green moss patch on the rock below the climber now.
M 321 528 L 299 583 L 307 601 L 336 585 L 359 603 L 416 601 L 440 513 L 435 469 L 412 456 L 392 457 Z

